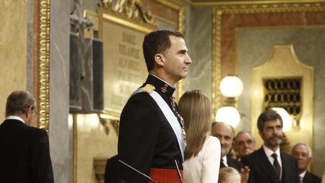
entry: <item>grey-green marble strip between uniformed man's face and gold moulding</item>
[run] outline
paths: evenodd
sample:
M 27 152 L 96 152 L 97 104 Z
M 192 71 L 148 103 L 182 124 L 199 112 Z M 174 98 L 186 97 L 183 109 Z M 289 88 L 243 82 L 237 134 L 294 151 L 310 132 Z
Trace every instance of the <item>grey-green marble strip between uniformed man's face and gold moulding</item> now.
M 188 7 L 185 20 L 186 46 L 192 59 L 185 90 L 200 89 L 211 100 L 212 8 Z

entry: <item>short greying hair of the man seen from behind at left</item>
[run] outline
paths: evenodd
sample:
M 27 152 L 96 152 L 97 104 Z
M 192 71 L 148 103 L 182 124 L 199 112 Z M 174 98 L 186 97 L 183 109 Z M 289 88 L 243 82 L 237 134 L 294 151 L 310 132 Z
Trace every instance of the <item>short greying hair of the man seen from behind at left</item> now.
M 26 90 L 15 90 L 7 98 L 6 117 L 22 114 L 28 107 L 35 108 L 35 98 Z

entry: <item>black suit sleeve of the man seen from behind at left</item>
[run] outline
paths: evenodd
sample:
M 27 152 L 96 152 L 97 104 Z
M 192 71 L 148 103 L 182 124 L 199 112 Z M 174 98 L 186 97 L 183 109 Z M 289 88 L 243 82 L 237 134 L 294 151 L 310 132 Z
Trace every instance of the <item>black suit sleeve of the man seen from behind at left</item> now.
M 39 131 L 39 136 L 32 145 L 31 173 L 33 182 L 52 183 L 53 170 L 50 158 L 49 138 L 45 130 Z

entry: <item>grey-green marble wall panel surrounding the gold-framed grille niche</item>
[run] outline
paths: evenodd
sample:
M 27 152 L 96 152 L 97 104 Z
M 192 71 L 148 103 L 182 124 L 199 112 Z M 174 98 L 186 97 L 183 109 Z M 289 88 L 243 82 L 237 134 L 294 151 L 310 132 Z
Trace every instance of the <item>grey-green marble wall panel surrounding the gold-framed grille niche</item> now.
M 250 131 L 251 123 L 251 84 L 252 69 L 266 62 L 271 54 L 272 46 L 279 44 L 293 44 L 298 58 L 305 64 L 315 68 L 314 80 L 314 162 L 312 170 L 317 175 L 322 175 L 325 169 L 325 138 L 323 111 L 325 99 L 323 89 L 325 78 L 322 71 L 325 69 L 325 27 L 273 27 L 239 29 L 237 31 L 237 69 L 243 81 L 243 94 L 238 99 L 238 109 L 246 116 L 242 119 L 238 129 Z M 292 145 L 292 144 L 291 144 Z

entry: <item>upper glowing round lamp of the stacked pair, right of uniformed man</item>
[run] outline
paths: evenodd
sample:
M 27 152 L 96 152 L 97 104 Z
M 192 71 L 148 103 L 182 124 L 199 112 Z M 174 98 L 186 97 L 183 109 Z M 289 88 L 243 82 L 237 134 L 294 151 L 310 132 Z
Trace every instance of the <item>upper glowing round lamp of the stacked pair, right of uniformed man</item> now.
M 220 92 L 224 97 L 238 97 L 243 92 L 243 82 L 237 76 L 226 76 L 220 82 Z

